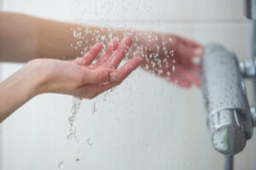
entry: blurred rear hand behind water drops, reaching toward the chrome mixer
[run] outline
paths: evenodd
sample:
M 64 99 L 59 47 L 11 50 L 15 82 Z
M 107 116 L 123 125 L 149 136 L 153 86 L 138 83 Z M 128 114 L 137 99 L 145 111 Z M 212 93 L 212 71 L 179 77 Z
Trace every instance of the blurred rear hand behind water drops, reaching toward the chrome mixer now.
M 203 54 L 203 47 L 183 37 L 154 32 L 137 32 L 133 53 L 143 58 L 143 68 L 183 88 L 201 86 L 200 68 L 193 59 Z

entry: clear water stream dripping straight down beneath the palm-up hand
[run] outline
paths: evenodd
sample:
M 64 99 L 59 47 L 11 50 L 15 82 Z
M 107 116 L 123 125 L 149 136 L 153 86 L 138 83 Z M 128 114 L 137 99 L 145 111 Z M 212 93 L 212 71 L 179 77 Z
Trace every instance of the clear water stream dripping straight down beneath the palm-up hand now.
M 81 102 L 82 102 L 82 99 L 77 98 L 77 97 L 73 98 L 73 105 L 72 105 L 72 108 L 71 108 L 72 116 L 70 116 L 68 118 L 68 121 L 70 123 L 70 130 L 69 130 L 69 134 L 67 136 L 67 139 L 74 140 L 74 141 L 76 141 L 79 144 L 82 143 L 82 140 L 79 139 L 77 137 L 77 135 L 76 135 L 77 126 L 76 126 L 75 119 L 76 119 L 76 115 L 79 112 L 79 108 L 80 108 Z

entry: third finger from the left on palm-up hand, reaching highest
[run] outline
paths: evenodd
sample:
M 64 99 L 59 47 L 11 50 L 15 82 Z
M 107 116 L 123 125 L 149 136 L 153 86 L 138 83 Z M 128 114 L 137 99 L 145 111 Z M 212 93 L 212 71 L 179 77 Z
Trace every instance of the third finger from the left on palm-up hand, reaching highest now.
M 128 48 L 130 48 L 131 43 L 131 37 L 125 37 L 122 42 L 120 42 L 119 47 L 114 51 L 112 56 L 105 62 L 105 66 L 117 68 L 121 60 L 125 57 L 125 53 Z

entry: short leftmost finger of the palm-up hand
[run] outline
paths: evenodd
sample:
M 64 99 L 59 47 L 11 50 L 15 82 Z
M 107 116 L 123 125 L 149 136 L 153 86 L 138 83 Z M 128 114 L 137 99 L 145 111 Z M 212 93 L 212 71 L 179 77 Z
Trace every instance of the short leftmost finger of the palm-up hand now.
M 89 52 L 84 55 L 81 59 L 77 59 L 75 62 L 79 65 L 90 65 L 92 61 L 96 58 L 96 56 L 102 50 L 102 43 L 96 43 L 92 48 L 90 48 Z

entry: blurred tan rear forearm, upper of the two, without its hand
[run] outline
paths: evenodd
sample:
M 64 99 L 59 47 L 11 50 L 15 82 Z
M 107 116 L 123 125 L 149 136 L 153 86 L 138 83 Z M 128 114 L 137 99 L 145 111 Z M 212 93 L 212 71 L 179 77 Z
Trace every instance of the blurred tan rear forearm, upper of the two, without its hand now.
M 113 37 L 123 38 L 121 30 L 67 24 L 25 14 L 0 12 L 0 23 L 0 61 L 75 59 L 95 42 L 107 45 Z

